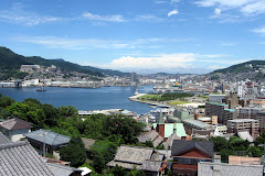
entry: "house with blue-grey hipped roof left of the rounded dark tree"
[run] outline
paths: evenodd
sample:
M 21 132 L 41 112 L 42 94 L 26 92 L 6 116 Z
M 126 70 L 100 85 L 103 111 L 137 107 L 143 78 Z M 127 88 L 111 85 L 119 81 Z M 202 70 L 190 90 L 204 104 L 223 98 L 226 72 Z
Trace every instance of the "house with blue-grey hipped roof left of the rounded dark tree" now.
M 45 152 L 53 154 L 53 156 L 57 160 L 60 160 L 57 151 L 67 145 L 71 140 L 68 136 L 43 129 L 26 133 L 24 136 L 40 154 L 45 155 L 43 153 L 43 147 L 45 146 Z

